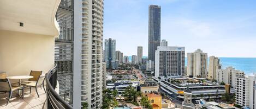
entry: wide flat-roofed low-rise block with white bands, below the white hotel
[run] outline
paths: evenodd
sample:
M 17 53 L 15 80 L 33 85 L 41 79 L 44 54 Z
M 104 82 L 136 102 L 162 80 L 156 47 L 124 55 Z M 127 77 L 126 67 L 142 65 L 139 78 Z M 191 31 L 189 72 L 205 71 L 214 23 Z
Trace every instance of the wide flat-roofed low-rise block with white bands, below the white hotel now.
M 184 98 L 184 89 L 187 87 L 192 91 L 192 99 L 221 98 L 222 94 L 228 92 L 225 85 L 205 80 L 192 78 L 158 79 L 155 77 L 153 77 L 153 80 L 159 83 L 159 88 L 166 94 L 181 100 Z M 229 88 L 229 91 L 230 93 L 235 93 L 234 88 Z

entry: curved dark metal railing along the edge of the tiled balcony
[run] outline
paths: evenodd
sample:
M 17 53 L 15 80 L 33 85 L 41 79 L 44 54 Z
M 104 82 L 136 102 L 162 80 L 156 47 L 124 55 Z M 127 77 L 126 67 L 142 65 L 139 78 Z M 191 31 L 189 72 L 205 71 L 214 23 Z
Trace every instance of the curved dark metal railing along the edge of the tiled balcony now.
M 57 64 L 55 64 L 55 66 L 51 70 L 49 70 L 49 72 L 45 76 L 47 109 L 52 109 L 52 108 L 72 109 L 73 107 L 70 106 L 66 101 L 64 101 L 55 91 L 55 88 L 57 85 L 56 67 L 57 67 Z

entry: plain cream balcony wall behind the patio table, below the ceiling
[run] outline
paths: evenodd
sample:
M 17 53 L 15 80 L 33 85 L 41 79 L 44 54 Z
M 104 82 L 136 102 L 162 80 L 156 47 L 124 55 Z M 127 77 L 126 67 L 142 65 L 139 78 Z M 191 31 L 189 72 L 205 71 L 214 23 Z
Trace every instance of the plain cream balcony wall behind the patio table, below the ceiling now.
M 0 72 L 29 75 L 31 70 L 47 73 L 54 65 L 54 37 L 0 30 Z

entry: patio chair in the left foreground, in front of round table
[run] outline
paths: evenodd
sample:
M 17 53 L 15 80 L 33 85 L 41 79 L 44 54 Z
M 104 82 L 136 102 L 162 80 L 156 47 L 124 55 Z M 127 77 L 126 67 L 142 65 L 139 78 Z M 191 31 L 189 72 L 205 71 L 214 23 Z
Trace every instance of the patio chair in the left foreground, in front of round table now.
M 14 91 L 16 90 L 22 90 L 22 99 L 23 99 L 23 94 L 24 94 L 24 87 L 23 86 L 11 86 L 9 79 L 0 79 L 0 92 L 8 92 L 9 93 L 9 99 L 7 101 L 7 104 L 9 103 L 11 99 L 11 95 L 13 94 Z

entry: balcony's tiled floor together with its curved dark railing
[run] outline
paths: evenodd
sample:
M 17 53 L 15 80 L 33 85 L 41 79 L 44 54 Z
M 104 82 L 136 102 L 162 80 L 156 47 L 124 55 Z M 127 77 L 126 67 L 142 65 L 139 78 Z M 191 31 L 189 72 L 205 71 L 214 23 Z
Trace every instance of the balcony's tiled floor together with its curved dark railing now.
M 69 108 L 72 106 L 67 104 L 58 94 L 55 88 L 57 85 L 57 70 L 56 66 L 53 67 L 45 76 L 46 87 L 39 88 L 38 94 L 32 88 L 31 93 L 29 93 L 29 87 L 25 88 L 24 98 L 19 97 L 18 92 L 14 92 L 12 98 L 8 105 L 8 93 L 0 94 L 0 108 Z M 46 89 L 46 93 L 44 92 Z

